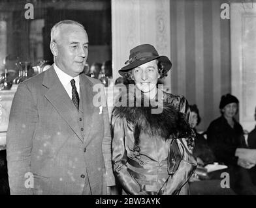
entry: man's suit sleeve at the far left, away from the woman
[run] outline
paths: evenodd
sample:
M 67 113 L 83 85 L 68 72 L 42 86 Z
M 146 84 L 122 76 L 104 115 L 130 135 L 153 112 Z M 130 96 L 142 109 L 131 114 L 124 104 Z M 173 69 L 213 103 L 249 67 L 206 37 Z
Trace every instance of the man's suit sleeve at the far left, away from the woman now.
M 25 84 L 18 86 L 7 130 L 7 165 L 10 194 L 32 194 L 31 175 L 32 138 L 37 125 L 37 105 Z

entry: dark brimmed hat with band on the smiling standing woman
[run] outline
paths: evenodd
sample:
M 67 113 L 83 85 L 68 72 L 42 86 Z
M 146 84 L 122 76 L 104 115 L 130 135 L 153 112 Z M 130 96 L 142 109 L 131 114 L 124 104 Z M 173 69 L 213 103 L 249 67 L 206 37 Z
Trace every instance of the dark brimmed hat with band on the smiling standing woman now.
M 165 56 L 159 56 L 157 50 L 155 49 L 155 47 L 153 47 L 153 45 L 143 44 L 131 49 L 129 60 L 125 62 L 125 64 L 127 65 L 121 68 L 121 70 L 119 70 L 118 72 L 120 73 L 120 75 L 125 77 L 125 73 L 129 72 L 133 68 L 136 68 L 137 66 L 145 64 L 146 62 L 150 62 L 154 59 L 158 59 L 159 62 L 163 64 L 163 74 L 167 73 L 172 67 L 172 62 L 170 62 L 170 59 Z

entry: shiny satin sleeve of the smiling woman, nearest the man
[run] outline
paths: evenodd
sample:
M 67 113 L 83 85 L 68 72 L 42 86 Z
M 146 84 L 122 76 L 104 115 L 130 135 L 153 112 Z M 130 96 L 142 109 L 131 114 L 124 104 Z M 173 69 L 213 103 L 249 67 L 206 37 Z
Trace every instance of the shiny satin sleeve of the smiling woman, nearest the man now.
M 127 151 L 125 150 L 125 133 L 123 119 L 112 116 L 112 162 L 114 173 L 118 181 L 127 194 L 140 195 L 140 185 L 127 170 Z

